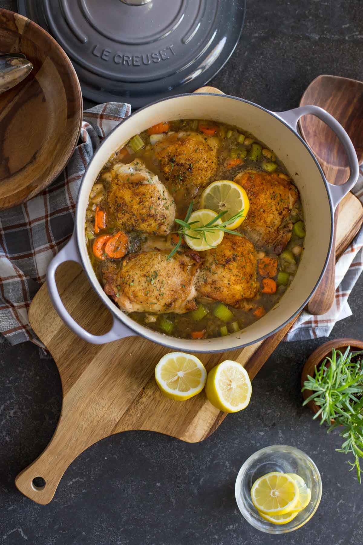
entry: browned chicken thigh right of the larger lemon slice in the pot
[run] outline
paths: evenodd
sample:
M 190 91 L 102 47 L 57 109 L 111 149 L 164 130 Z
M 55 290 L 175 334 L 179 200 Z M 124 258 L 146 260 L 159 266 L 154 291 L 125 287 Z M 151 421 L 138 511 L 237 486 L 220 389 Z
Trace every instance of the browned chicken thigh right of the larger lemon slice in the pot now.
M 291 237 L 292 225 L 280 229 L 298 199 L 290 181 L 268 172 L 244 171 L 234 180 L 247 192 L 250 209 L 241 225 L 243 231 L 255 235 L 257 244 L 276 244 L 281 253 Z

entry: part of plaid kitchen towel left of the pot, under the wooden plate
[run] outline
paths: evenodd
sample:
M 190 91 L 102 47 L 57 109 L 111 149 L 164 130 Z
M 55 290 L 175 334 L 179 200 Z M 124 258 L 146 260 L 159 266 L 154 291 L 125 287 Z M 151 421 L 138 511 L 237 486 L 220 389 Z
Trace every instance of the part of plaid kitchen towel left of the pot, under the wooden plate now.
M 131 113 L 130 104 L 108 102 L 83 114 L 78 146 L 63 173 L 30 201 L 0 213 L 0 332 L 11 344 L 31 340 L 28 308 L 45 281 L 51 259 L 69 239 L 79 185 L 106 136 Z

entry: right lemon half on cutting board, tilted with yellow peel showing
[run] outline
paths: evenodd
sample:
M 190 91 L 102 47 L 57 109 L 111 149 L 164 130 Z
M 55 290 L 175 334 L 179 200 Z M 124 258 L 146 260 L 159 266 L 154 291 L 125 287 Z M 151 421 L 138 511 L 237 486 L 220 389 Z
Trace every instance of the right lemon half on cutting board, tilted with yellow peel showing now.
M 225 360 L 208 373 L 205 392 L 217 409 L 225 413 L 237 413 L 249 404 L 252 385 L 241 364 Z

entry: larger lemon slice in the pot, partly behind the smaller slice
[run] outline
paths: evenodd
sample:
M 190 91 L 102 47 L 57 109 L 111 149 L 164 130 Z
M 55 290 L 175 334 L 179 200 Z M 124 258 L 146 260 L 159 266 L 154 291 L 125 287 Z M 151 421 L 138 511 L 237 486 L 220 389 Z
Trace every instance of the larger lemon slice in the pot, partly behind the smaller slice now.
M 231 180 L 217 180 L 208 185 L 200 196 L 200 205 L 217 214 L 226 211 L 222 221 L 228 221 L 243 209 L 243 216 L 230 223 L 227 226 L 229 229 L 236 229 L 241 225 L 250 209 L 247 193 L 241 185 Z

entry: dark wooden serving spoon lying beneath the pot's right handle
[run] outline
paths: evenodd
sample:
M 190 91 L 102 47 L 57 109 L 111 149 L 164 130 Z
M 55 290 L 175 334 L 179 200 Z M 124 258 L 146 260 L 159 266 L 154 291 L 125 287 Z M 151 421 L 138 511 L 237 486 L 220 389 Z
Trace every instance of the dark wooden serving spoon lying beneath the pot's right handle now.
M 318 76 L 300 100 L 300 106 L 313 104 L 324 108 L 347 131 L 353 142 L 359 165 L 363 162 L 363 83 L 339 76 Z M 331 184 L 342 185 L 349 177 L 346 153 L 335 133 L 315 116 L 299 121 L 305 142 L 312 149 L 325 177 Z M 310 314 L 325 314 L 335 297 L 335 235 L 338 207 L 334 215 L 333 246 L 321 282 L 307 304 Z

